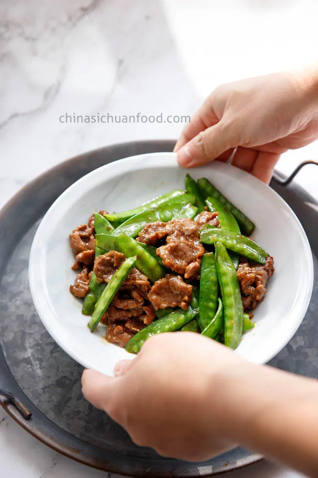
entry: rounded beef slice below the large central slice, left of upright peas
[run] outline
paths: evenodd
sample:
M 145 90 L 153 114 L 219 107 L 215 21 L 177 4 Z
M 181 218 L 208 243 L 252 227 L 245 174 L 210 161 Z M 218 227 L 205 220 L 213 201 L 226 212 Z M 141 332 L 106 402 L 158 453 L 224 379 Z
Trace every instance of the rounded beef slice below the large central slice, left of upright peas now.
M 167 274 L 154 283 L 148 299 L 156 310 L 178 306 L 186 310 L 192 299 L 192 289 L 192 285 L 183 282 L 181 276 Z

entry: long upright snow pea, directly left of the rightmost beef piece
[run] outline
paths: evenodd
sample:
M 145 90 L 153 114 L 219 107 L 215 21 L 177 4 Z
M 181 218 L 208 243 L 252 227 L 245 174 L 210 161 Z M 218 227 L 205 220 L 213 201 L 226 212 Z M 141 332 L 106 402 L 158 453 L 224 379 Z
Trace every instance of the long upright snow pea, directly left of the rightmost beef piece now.
M 224 343 L 231 349 L 239 345 L 243 332 L 243 304 L 239 281 L 227 250 L 215 244 L 218 279 L 224 307 Z

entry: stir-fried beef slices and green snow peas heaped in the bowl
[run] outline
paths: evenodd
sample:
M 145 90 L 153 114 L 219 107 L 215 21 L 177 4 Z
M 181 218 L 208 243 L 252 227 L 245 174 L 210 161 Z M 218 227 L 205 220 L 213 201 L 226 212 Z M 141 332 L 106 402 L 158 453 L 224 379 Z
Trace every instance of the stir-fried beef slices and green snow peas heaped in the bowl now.
M 93 213 L 69 235 L 91 332 L 137 353 L 151 335 L 193 331 L 235 349 L 254 327 L 273 257 L 249 236 L 254 224 L 207 179 L 129 211 Z

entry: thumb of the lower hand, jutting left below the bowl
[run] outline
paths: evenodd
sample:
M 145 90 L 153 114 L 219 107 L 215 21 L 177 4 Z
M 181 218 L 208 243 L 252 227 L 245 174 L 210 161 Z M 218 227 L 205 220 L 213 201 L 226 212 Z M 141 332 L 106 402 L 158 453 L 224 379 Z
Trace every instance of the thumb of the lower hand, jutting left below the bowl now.
M 82 393 L 96 408 L 105 410 L 114 394 L 115 381 L 114 377 L 86 369 L 82 375 Z

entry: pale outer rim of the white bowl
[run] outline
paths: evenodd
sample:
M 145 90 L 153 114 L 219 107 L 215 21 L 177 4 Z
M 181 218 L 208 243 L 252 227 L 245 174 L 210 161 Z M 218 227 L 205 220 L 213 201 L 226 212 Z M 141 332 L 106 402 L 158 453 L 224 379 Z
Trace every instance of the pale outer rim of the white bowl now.
M 71 356 L 74 360 L 76 360 L 78 363 L 83 365 L 86 368 L 95 368 L 90 360 L 87 360 L 83 358 L 80 354 L 77 352 L 74 352 L 71 348 L 68 347 L 68 341 L 63 337 L 63 333 L 59 333 L 59 331 L 63 330 L 63 327 L 59 324 L 58 321 L 55 320 L 55 314 L 53 310 L 50 307 L 47 307 L 47 305 L 50 304 L 50 300 L 48 297 L 48 291 L 46 289 L 46 281 L 44 277 L 44 271 L 42 268 L 42 274 L 39 280 L 38 276 L 38 264 L 39 260 L 38 257 L 36 256 L 36 252 L 38 252 L 39 247 L 41 248 L 41 235 L 42 231 L 45 229 L 45 223 L 49 221 L 50 214 L 52 211 L 55 210 L 55 208 L 65 199 L 68 198 L 68 196 L 72 196 L 74 190 L 78 189 L 78 192 L 81 194 L 85 194 L 86 192 L 89 192 L 92 190 L 94 187 L 97 185 L 101 184 L 105 180 L 105 176 L 101 174 L 101 172 L 104 173 L 104 171 L 110 171 L 114 170 L 114 176 L 118 176 L 119 174 L 122 173 L 129 173 L 130 171 L 136 171 L 138 168 L 131 168 L 133 164 L 133 160 L 141 160 L 143 161 L 145 158 L 151 156 L 151 161 L 147 163 L 147 169 L 155 168 L 155 167 L 162 167 L 163 161 L 165 167 L 173 167 L 176 165 L 178 167 L 177 161 L 176 161 L 176 153 L 173 152 L 153 152 L 153 153 L 144 153 L 144 154 L 136 154 L 133 156 L 128 156 L 122 159 L 118 159 L 116 161 L 113 161 L 111 163 L 105 164 L 90 173 L 82 176 L 79 178 L 77 181 L 75 181 L 73 184 L 71 184 L 54 202 L 53 204 L 49 207 L 47 212 L 45 213 L 45 216 L 43 217 L 40 225 L 38 226 L 38 229 L 36 231 L 36 234 L 33 239 L 33 243 L 31 246 L 31 251 L 30 251 L 30 256 L 29 256 L 29 285 L 30 285 L 30 291 L 31 291 L 31 296 L 32 300 L 34 302 L 35 308 L 37 310 L 37 313 L 45 326 L 46 330 L 48 333 L 51 335 L 51 337 L 57 342 L 57 344 L 66 352 L 68 353 L 69 356 Z M 160 164 L 158 162 L 160 159 Z M 156 162 L 157 159 L 157 162 Z M 136 164 L 136 163 L 134 163 Z M 293 216 L 293 219 L 295 220 L 295 223 L 298 226 L 298 231 L 299 231 L 299 237 L 301 238 L 301 242 L 304 246 L 304 252 L 305 252 L 305 257 L 304 257 L 304 263 L 307 266 L 307 274 L 306 274 L 306 284 L 305 287 L 303 287 L 303 294 L 302 294 L 302 303 L 300 310 L 297 312 L 298 319 L 293 320 L 290 322 L 288 330 L 286 330 L 286 334 L 284 335 L 284 340 L 280 340 L 279 346 L 277 348 L 277 341 L 275 341 L 274 344 L 269 344 L 269 347 L 267 349 L 267 353 L 263 353 L 263 356 L 260 356 L 259 360 L 253 360 L 254 363 L 258 364 L 263 364 L 267 363 L 270 361 L 280 350 L 282 350 L 286 344 L 291 340 L 291 338 L 294 336 L 296 330 L 300 326 L 304 315 L 307 311 L 311 295 L 312 295 L 312 289 L 313 289 L 313 284 L 314 284 L 314 264 L 313 264 L 313 257 L 311 253 L 311 248 L 310 244 L 307 238 L 307 235 L 304 231 L 303 226 L 301 225 L 299 219 L 295 215 L 295 212 L 291 209 L 289 204 L 287 204 L 286 201 L 283 200 L 279 196 L 276 191 L 274 191 L 269 185 L 265 184 L 255 176 L 250 175 L 249 173 L 246 173 L 245 171 L 242 171 L 241 169 L 231 165 L 227 164 L 221 161 L 214 161 L 212 163 L 213 168 L 225 170 L 228 168 L 228 171 L 231 171 L 232 175 L 237 179 L 244 179 L 245 181 L 250 182 L 250 185 L 254 186 L 257 189 L 263 189 L 264 191 L 267 191 L 267 194 L 275 198 L 275 201 L 280 202 L 280 204 L 286 209 L 289 210 L 291 215 Z M 207 166 L 207 165 L 205 165 Z M 139 168 L 140 169 L 140 168 Z M 180 168 L 182 171 L 187 171 L 183 170 Z M 195 170 L 199 170 L 200 168 L 196 168 Z M 212 169 L 212 168 L 211 168 Z M 191 171 L 191 170 L 190 170 Z M 84 188 L 83 188 L 84 186 Z M 71 197 L 70 196 L 70 197 Z M 78 199 L 78 196 L 77 196 Z M 41 289 L 40 287 L 41 286 Z M 53 317 L 52 317 L 53 315 Z M 54 320 L 52 320 L 54 319 Z M 287 333 L 288 332 L 288 333 Z M 132 356 L 129 357 L 131 359 L 135 358 L 135 355 L 131 354 Z

